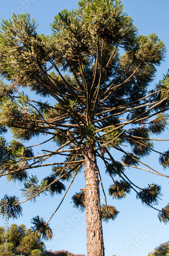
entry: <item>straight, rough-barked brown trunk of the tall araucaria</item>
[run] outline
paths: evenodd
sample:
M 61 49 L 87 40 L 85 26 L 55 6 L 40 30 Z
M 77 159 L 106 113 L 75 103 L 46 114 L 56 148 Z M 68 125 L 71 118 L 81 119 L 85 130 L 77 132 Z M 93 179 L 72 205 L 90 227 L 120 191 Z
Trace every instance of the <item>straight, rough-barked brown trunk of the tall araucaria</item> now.
M 104 256 L 96 154 L 91 145 L 86 146 L 86 153 L 85 202 L 87 223 L 87 256 Z

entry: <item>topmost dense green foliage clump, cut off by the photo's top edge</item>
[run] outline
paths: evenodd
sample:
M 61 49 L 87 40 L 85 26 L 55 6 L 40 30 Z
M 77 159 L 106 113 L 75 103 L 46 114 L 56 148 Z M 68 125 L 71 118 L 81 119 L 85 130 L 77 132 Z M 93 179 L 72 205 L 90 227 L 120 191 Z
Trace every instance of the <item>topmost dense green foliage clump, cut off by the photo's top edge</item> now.
M 127 49 L 134 41 L 137 32 L 131 17 L 124 13 L 120 1 L 79 1 L 80 15 L 91 32 L 92 39 L 101 39 L 119 43 Z

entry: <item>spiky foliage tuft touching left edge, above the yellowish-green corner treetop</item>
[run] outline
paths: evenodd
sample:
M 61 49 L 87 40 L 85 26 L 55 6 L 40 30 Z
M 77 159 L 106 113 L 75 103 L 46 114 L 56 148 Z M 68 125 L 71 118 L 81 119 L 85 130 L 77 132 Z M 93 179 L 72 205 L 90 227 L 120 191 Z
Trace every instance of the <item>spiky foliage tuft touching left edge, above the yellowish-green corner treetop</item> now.
M 0 201 L 0 214 L 5 219 L 17 219 L 22 216 L 22 208 L 19 204 L 19 199 L 16 196 L 5 195 Z

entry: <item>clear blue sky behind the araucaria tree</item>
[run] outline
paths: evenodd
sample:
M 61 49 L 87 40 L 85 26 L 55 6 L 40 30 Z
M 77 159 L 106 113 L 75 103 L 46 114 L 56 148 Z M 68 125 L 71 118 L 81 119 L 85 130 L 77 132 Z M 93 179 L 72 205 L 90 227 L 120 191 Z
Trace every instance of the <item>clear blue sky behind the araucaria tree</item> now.
M 162 74 L 166 74 L 169 68 L 169 33 L 168 33 L 168 0 L 123 0 L 125 11 L 132 16 L 133 23 L 138 27 L 139 34 L 148 35 L 156 33 L 161 40 L 165 42 L 167 56 L 165 62 L 158 68 L 157 76 L 154 81 L 158 82 L 162 78 Z M 0 19 L 10 18 L 12 13 L 31 13 L 32 17 L 38 20 L 38 33 L 50 34 L 49 24 L 52 23 L 53 16 L 61 9 L 77 8 L 76 0 L 6 0 L 1 1 Z M 153 86 L 153 84 L 152 84 Z M 169 132 L 166 131 L 160 138 L 168 138 Z M 9 138 L 10 139 L 10 138 Z M 165 151 L 168 148 L 168 142 L 155 143 L 155 148 L 158 151 Z M 54 145 L 48 145 L 50 150 Z M 42 148 L 39 148 L 39 152 Z M 118 157 L 118 156 L 117 156 Z M 119 156 L 120 158 L 120 156 Z M 163 172 L 162 167 L 158 164 L 158 158 L 153 154 L 148 159 L 145 159 L 148 164 Z M 103 166 L 100 166 L 104 173 Z M 165 171 L 166 174 L 168 170 Z M 38 169 L 36 174 L 40 177 L 48 175 L 48 169 Z M 35 172 L 32 172 L 35 174 Z M 163 201 L 160 202 L 158 208 L 161 209 L 168 203 L 168 179 L 153 176 L 144 171 L 127 170 L 129 177 L 140 186 L 147 186 L 148 183 L 158 183 L 162 185 Z M 105 190 L 108 189 L 111 181 L 108 176 L 103 178 L 105 182 Z M 18 184 L 8 183 L 6 179 L 0 180 L 0 198 L 5 194 L 16 195 L 19 197 L 20 186 Z M 80 214 L 72 207 L 71 196 L 76 191 L 85 186 L 83 173 L 75 181 L 75 185 L 69 191 L 64 204 L 61 206 L 58 213 L 53 217 L 50 226 L 53 229 L 54 238 L 50 242 L 46 242 L 47 249 L 54 250 L 69 250 L 73 253 L 86 254 L 86 220 L 85 214 Z M 62 197 L 41 197 L 37 199 L 37 203 L 26 202 L 23 206 L 23 217 L 16 220 L 16 224 L 25 224 L 30 227 L 30 220 L 36 215 L 45 217 L 47 221 L 52 212 L 57 208 Z M 103 203 L 103 195 L 101 195 Z M 110 221 L 108 224 L 103 223 L 105 256 L 147 256 L 148 252 L 153 250 L 160 243 L 169 240 L 168 231 L 169 224 L 165 226 L 160 223 L 157 218 L 157 211 L 145 207 L 140 201 L 136 200 L 135 193 L 129 195 L 121 201 L 112 201 L 108 199 L 108 204 L 114 205 L 120 211 L 118 218 L 115 221 Z M 3 220 L 0 220 L 0 225 L 3 226 Z M 10 220 L 9 224 L 13 222 Z

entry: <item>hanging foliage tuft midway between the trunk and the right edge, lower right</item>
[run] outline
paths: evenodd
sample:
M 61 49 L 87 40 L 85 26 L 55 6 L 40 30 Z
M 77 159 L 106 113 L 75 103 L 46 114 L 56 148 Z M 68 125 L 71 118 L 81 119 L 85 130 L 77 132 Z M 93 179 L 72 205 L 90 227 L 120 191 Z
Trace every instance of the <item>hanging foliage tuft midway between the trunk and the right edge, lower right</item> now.
M 131 191 L 131 186 L 129 183 L 123 180 L 115 181 L 114 185 L 111 185 L 108 189 L 109 195 L 115 199 L 122 199 L 126 197 Z

